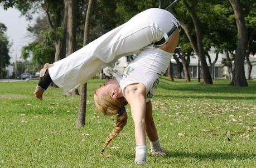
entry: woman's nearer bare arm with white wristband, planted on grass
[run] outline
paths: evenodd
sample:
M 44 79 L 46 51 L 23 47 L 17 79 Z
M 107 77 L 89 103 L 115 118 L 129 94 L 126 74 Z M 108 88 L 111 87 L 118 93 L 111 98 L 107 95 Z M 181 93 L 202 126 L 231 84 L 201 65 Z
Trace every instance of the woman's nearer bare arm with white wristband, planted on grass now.
M 137 164 L 146 162 L 146 88 L 142 83 L 132 84 L 125 88 L 125 98 L 131 106 L 132 117 L 135 127 L 136 157 Z

